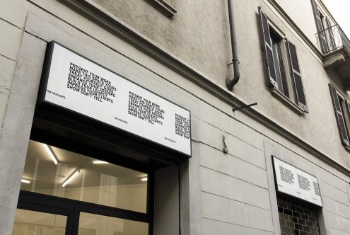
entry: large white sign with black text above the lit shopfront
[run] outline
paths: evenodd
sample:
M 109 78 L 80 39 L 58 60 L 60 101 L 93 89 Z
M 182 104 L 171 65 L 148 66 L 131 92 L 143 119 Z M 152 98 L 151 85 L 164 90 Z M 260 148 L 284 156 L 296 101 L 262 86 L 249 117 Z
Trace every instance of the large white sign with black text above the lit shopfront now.
M 51 42 L 42 101 L 191 156 L 190 112 Z

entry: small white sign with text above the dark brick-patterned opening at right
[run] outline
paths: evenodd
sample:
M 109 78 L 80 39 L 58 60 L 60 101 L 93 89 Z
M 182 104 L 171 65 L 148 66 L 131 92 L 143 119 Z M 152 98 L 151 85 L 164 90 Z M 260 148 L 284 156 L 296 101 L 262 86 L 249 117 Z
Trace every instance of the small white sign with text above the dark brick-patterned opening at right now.
M 277 190 L 281 193 L 298 197 L 322 207 L 320 187 L 315 176 L 311 176 L 298 168 L 274 159 L 274 172 Z

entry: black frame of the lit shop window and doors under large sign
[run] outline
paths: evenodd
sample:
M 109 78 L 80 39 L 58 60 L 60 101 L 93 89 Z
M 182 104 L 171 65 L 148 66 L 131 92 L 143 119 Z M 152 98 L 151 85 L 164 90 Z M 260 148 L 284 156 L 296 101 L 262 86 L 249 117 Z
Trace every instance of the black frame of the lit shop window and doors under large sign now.
M 69 141 L 66 141 L 65 137 L 52 137 L 52 134 L 49 132 L 41 132 L 37 130 L 35 125 L 33 125 L 30 139 L 83 155 L 87 155 L 86 150 L 99 151 L 97 147 L 92 147 L 83 143 L 78 144 L 78 147 L 76 148 L 72 148 L 71 145 L 68 144 Z M 93 152 L 95 153 L 95 151 Z M 106 156 L 105 154 L 101 155 L 104 157 Z M 69 230 L 66 231 L 66 234 L 78 233 L 80 212 L 98 214 L 107 217 L 116 217 L 119 219 L 128 219 L 136 222 L 144 222 L 148 224 L 148 234 L 153 234 L 154 171 L 151 166 L 149 166 L 149 164 L 137 164 L 135 160 L 128 161 L 127 159 L 122 158 L 122 156 L 118 158 L 113 157 L 112 159 L 102 159 L 100 156 L 95 154 L 88 156 L 102 161 L 108 160 L 110 164 L 147 173 L 146 212 L 125 210 L 119 207 L 110 207 L 92 202 L 73 200 L 66 197 L 34 193 L 28 190 L 20 190 L 17 208 L 53 214 L 62 214 L 61 211 L 64 211 L 63 215 L 68 217 L 66 227 L 69 228 Z M 111 153 L 110 156 L 115 156 L 115 154 Z

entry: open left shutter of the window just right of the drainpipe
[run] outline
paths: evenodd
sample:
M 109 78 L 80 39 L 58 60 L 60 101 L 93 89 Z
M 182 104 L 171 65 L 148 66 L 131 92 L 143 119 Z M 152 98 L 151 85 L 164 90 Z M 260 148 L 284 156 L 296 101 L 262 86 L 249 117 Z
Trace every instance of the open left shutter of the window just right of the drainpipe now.
M 272 54 L 272 41 L 269 31 L 269 23 L 267 21 L 267 16 L 259 8 L 259 16 L 262 28 L 262 39 L 264 41 L 264 52 L 267 64 L 268 82 L 271 86 L 277 88 L 276 71 L 274 70 L 274 56 Z

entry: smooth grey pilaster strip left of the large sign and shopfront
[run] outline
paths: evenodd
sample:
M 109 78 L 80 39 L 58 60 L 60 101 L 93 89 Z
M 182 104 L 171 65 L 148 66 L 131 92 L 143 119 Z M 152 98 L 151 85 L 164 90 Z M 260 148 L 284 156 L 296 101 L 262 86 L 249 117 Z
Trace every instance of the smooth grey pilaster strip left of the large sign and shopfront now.
M 0 234 L 11 234 L 46 43 L 25 33 L 0 136 Z M 37 58 L 33 62 L 33 59 Z M 25 86 L 23 86 L 25 84 Z

